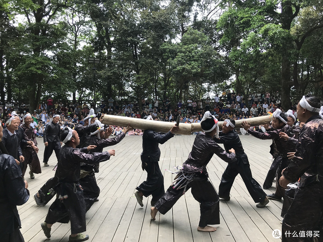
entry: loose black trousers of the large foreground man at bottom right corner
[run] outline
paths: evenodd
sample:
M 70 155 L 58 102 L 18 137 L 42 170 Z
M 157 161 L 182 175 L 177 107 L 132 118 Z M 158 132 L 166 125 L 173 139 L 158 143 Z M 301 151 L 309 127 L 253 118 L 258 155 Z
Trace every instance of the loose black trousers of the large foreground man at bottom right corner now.
M 296 189 L 294 201 L 285 214 L 282 242 L 323 241 L 323 188 L 320 182 Z M 299 237 L 305 231 L 305 237 Z M 306 237 L 307 231 L 318 231 L 319 237 Z M 298 234 L 293 237 L 292 233 Z

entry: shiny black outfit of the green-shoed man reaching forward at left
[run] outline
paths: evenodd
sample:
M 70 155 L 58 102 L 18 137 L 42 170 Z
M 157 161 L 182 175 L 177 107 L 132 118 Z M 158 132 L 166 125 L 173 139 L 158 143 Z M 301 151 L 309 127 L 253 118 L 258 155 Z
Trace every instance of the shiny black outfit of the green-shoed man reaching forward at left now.
M 94 164 L 110 158 L 109 152 L 86 154 L 86 148 L 76 149 L 65 145 L 61 148 L 55 176 L 58 178 L 56 187 L 57 198 L 49 207 L 45 222 L 68 223 L 71 221 L 71 233 L 86 231 L 86 204 L 83 188 L 80 186 L 81 162 Z M 58 197 L 67 195 L 67 198 Z

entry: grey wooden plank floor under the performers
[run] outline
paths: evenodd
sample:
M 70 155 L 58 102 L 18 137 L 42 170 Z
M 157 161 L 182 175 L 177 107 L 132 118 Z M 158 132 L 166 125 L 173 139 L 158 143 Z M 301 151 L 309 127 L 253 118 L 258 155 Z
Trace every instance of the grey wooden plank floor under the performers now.
M 191 151 L 194 138 L 195 135 L 175 136 L 160 145 L 159 164 L 164 173 L 166 189 L 174 175 L 165 169 L 174 170 L 174 166 L 182 165 Z M 262 185 L 272 162 L 269 154 L 271 140 L 259 140 L 252 136 L 240 138 L 248 155 L 253 177 Z M 42 161 L 42 138 L 37 138 L 37 141 L 38 156 Z M 272 231 L 281 228 L 282 202 L 270 201 L 266 208 L 256 208 L 240 175 L 236 177 L 231 189 L 231 200 L 220 200 L 221 224 L 216 226 L 216 232 L 204 233 L 196 230 L 200 216 L 199 204 L 190 192 L 179 199 L 166 215 L 158 213 L 156 221 L 151 221 L 151 197 L 144 198 L 144 207 L 140 207 L 134 197 L 135 188 L 146 178 L 146 173 L 141 170 L 141 143 L 141 136 L 126 136 L 118 145 L 108 147 L 116 150 L 116 156 L 101 163 L 100 172 L 96 174 L 101 193 L 99 202 L 94 203 L 86 214 L 86 234 L 90 237 L 88 241 L 277 241 L 273 238 Z M 35 175 L 34 180 L 28 176 L 29 169 L 26 172 L 31 196 L 26 204 L 18 207 L 22 223 L 21 232 L 25 241 L 68 241 L 70 225 L 60 223 L 53 225 L 52 236 L 46 240 L 40 223 L 45 220 L 47 210 L 54 199 L 45 207 L 37 207 L 32 197 L 47 179 L 54 176 L 52 169 L 57 163 L 55 154 L 48 163 L 50 166 L 42 167 L 42 173 Z M 216 190 L 226 165 L 214 155 L 207 167 Z M 265 190 L 266 193 L 273 193 L 274 186 L 275 184 L 269 190 Z

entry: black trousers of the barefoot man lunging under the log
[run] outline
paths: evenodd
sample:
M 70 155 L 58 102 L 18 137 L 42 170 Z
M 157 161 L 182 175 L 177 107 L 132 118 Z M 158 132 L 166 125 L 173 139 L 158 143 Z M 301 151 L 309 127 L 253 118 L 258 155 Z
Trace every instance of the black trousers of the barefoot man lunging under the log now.
M 192 181 L 187 185 L 187 190 L 192 188 L 192 195 L 200 203 L 200 227 L 208 224 L 220 224 L 219 196 L 211 182 L 206 178 L 202 181 Z M 161 214 L 167 213 L 182 197 L 184 188 L 179 190 L 170 186 L 166 193 L 157 201 L 155 207 Z

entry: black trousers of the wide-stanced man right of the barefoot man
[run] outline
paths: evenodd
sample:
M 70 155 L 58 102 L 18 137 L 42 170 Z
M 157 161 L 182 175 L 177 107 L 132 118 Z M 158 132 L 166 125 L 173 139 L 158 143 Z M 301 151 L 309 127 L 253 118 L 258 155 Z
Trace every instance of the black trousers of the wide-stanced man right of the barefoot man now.
M 228 164 L 225 168 L 219 186 L 219 197 L 230 196 L 231 187 L 238 174 L 240 174 L 254 202 L 259 203 L 264 201 L 266 193 L 263 191 L 259 183 L 252 177 L 249 163 L 244 164 L 242 160 Z

